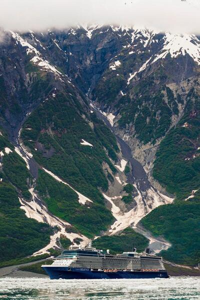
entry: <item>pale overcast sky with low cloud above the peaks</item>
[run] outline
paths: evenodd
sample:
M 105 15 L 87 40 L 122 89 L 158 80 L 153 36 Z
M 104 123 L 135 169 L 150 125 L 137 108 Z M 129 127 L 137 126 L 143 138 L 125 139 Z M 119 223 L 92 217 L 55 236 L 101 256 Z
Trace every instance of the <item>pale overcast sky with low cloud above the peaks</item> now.
M 0 0 L 0 27 L 42 31 L 120 24 L 200 34 L 200 0 Z

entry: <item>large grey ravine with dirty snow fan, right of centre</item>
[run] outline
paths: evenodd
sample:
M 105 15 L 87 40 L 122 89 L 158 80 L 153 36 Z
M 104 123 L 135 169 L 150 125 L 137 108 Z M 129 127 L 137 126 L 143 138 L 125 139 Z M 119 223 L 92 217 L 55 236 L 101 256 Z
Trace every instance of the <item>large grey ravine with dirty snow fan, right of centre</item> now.
M 173 199 L 161 194 L 154 186 L 152 186 L 152 184 L 150 184 L 142 165 L 132 157 L 130 147 L 116 134 L 114 127 L 112 127 L 112 125 L 110 124 L 110 121 L 97 107 L 95 107 L 93 102 L 91 102 L 91 107 L 96 112 L 98 118 L 100 118 L 115 135 L 120 146 L 123 158 L 128 161 L 129 164 L 131 164 L 131 173 L 129 173 L 129 175 L 127 176 L 127 183 L 133 184 L 133 186 L 137 190 L 137 196 L 134 198 L 134 208 L 129 212 L 124 213 L 124 219 L 129 218 L 129 222 L 131 222 L 129 225 L 131 225 L 131 227 L 134 228 L 136 232 L 149 239 L 149 248 L 151 249 L 151 251 L 153 251 L 154 253 L 158 253 L 162 249 L 167 249 L 168 247 L 170 247 L 170 243 L 165 241 L 162 237 L 155 238 L 154 236 L 152 236 L 149 231 L 141 227 L 139 221 L 152 209 L 156 208 L 159 205 L 171 203 Z M 114 203 L 114 197 L 111 199 Z M 118 223 L 117 221 L 115 222 L 115 227 L 118 226 L 118 228 L 124 229 L 123 225 L 120 223 L 120 219 L 121 218 L 119 218 Z M 124 226 L 126 225 L 127 222 L 124 222 Z M 114 233 L 117 232 L 115 227 Z

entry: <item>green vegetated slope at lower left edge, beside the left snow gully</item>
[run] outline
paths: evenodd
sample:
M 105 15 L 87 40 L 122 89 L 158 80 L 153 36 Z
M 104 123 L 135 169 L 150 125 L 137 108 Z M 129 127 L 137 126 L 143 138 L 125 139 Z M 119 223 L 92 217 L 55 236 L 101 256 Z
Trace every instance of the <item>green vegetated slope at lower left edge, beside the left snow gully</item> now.
M 0 258 L 7 261 L 31 255 L 49 242 L 47 224 L 28 219 L 20 209 L 16 190 L 0 182 Z

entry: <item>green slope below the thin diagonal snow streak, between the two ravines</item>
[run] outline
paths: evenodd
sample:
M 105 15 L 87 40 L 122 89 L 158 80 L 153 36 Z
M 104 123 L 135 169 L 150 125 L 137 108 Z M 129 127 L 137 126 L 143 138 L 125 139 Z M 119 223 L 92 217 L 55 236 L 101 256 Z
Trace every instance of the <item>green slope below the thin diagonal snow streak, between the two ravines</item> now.
M 52 214 L 69 222 L 88 237 L 106 230 L 113 222 L 113 216 L 105 208 L 103 198 L 99 197 L 96 202 L 81 205 L 77 194 L 71 188 L 55 181 L 41 170 L 37 179 L 37 190 Z

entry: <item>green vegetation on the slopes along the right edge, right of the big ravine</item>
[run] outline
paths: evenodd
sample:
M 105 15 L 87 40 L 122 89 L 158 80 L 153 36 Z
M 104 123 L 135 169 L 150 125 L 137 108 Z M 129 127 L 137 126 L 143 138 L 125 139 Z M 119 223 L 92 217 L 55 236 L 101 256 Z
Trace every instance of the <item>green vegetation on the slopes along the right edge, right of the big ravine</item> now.
M 200 192 L 183 199 L 200 187 L 200 102 L 193 89 L 186 101 L 183 117 L 160 143 L 153 169 L 154 178 L 175 195 L 174 204 L 156 208 L 141 223 L 171 242 L 162 251 L 165 259 L 195 265 L 200 261 Z

